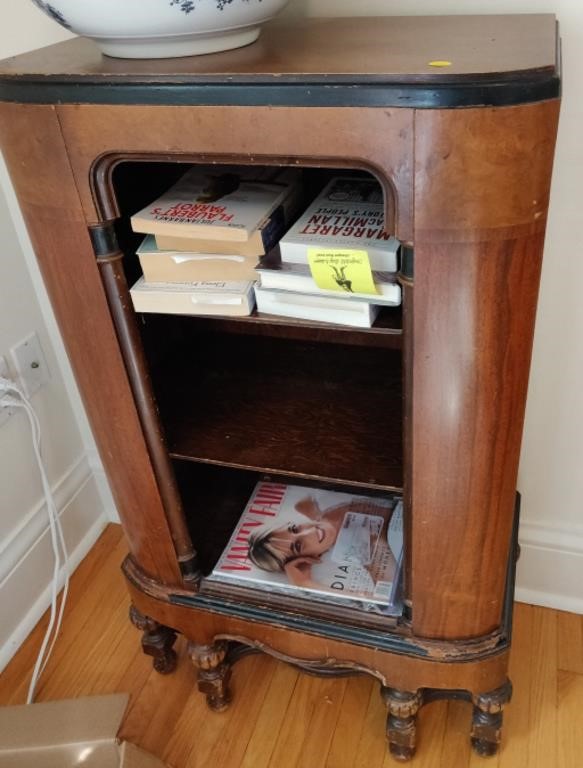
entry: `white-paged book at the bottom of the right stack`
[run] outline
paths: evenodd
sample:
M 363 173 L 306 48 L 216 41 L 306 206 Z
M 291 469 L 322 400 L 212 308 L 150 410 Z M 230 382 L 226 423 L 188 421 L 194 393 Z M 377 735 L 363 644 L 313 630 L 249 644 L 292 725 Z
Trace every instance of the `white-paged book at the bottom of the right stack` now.
M 268 315 L 350 325 L 356 328 L 370 328 L 380 310 L 376 304 L 360 299 L 267 290 L 257 285 L 255 301 L 257 310 Z

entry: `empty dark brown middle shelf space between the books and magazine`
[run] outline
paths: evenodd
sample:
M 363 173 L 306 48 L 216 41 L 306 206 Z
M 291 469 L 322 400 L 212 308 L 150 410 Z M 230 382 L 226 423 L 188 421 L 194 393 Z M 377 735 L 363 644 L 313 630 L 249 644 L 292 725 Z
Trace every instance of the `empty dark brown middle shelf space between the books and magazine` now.
M 172 458 L 402 487 L 400 353 L 226 334 L 190 344 L 154 376 Z

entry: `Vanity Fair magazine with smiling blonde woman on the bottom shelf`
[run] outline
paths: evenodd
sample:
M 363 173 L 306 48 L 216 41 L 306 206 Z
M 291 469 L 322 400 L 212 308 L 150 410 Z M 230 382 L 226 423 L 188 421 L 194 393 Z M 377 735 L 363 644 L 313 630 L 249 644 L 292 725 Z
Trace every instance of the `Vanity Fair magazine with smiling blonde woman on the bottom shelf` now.
M 392 615 L 402 550 L 397 494 L 261 481 L 207 581 Z

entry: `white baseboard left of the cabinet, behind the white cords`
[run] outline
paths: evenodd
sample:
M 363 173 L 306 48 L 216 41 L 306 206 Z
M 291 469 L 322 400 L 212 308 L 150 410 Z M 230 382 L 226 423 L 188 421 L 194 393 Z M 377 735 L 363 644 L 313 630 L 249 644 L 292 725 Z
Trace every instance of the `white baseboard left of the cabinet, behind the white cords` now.
M 71 466 L 52 491 L 73 571 L 109 521 L 88 458 Z M 0 671 L 49 607 L 53 563 L 43 501 L 0 546 Z

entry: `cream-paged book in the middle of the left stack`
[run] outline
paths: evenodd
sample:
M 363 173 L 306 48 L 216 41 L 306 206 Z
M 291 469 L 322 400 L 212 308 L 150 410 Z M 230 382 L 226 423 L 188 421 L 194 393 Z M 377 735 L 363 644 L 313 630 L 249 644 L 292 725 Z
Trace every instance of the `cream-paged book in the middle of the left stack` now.
M 153 235 L 146 235 L 136 253 L 147 283 L 248 282 L 257 279 L 257 259 L 253 256 L 161 251 Z

